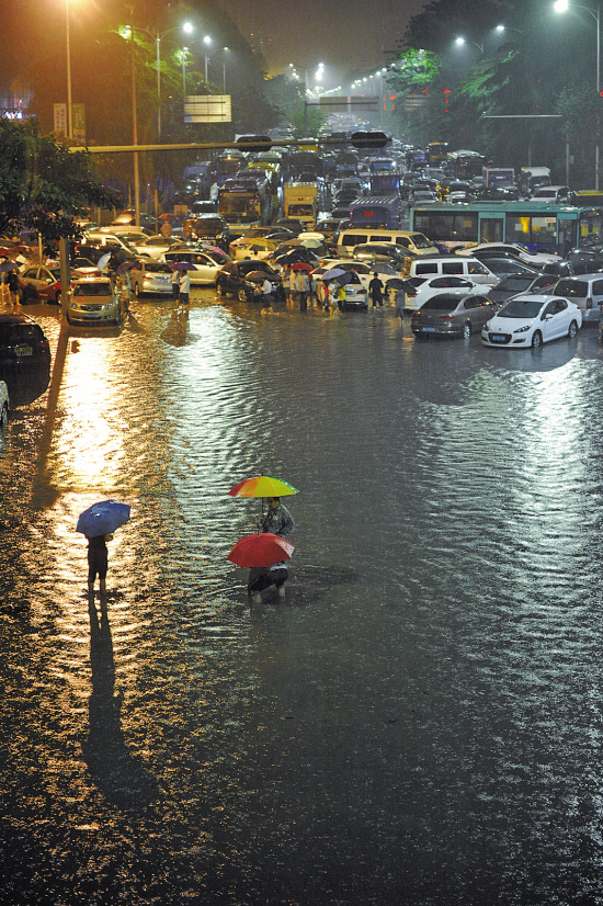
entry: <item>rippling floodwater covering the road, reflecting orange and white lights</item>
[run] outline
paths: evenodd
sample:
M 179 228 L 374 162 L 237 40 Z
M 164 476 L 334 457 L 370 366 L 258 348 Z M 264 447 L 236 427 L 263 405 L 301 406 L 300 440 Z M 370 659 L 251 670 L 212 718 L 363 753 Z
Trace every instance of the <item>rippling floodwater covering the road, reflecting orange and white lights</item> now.
M 4 306 L 5 307 L 5 306 Z M 213 291 L 59 331 L 0 445 L 15 906 L 603 903 L 602 351 Z M 226 555 L 289 498 L 286 600 Z M 78 513 L 132 505 L 106 610 Z

